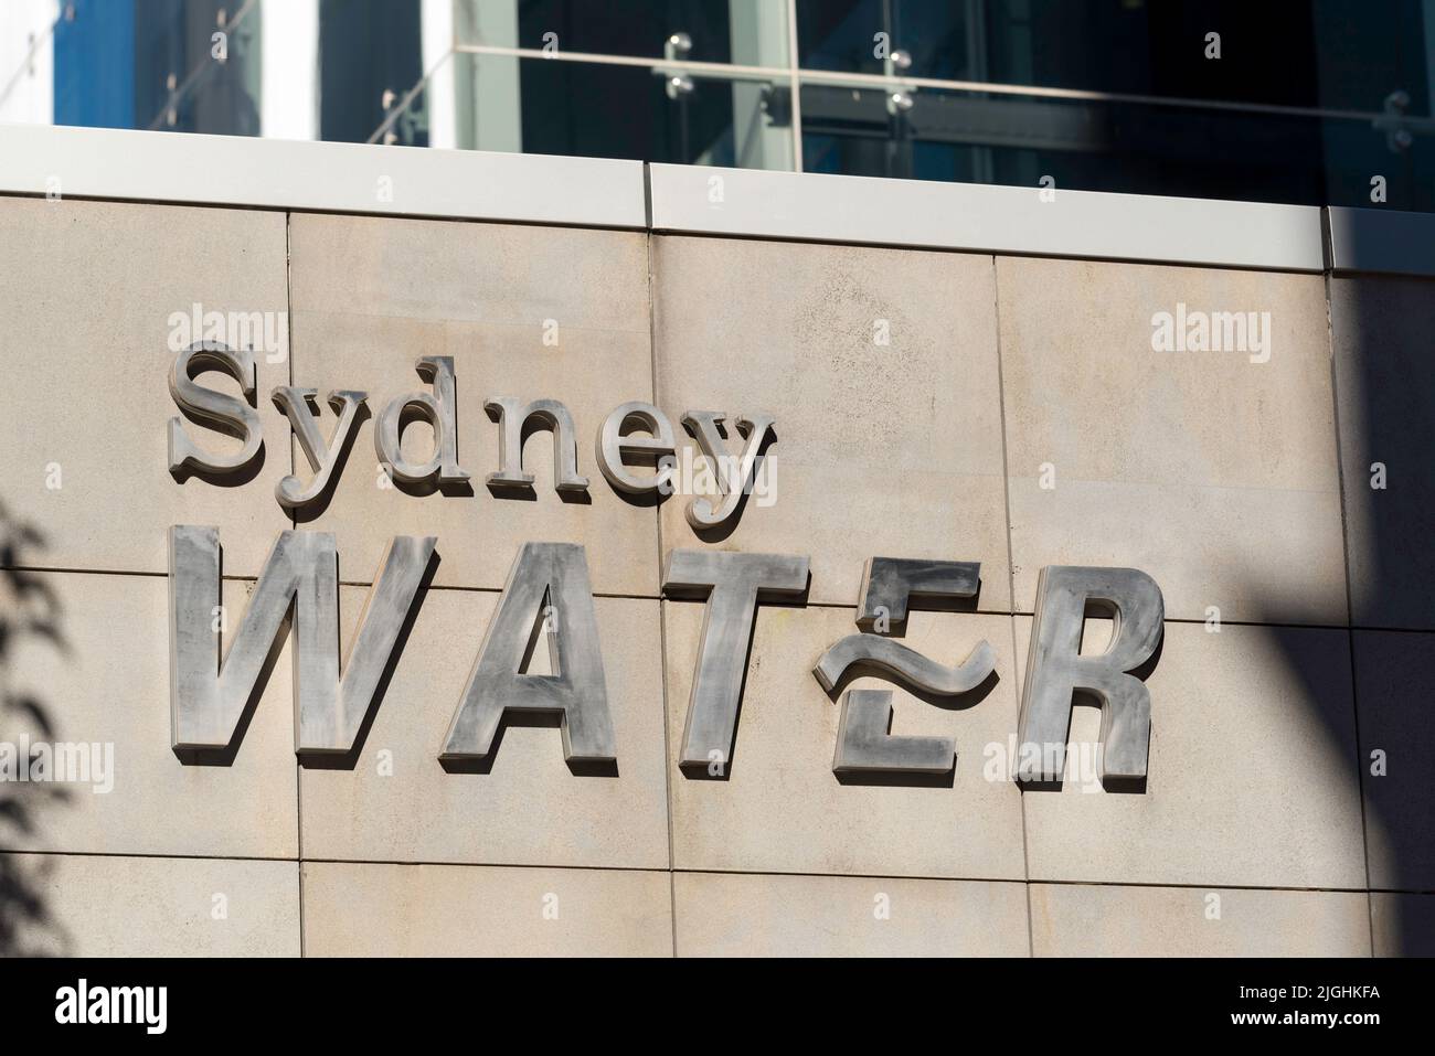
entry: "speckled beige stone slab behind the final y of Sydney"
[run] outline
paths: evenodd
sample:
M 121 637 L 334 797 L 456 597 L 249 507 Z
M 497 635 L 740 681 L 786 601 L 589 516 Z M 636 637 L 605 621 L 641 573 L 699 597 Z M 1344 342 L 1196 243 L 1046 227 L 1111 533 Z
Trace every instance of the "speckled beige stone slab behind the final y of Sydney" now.
M 776 416 L 775 502 L 752 496 L 706 542 L 809 554 L 812 600 L 848 605 L 870 557 L 980 561 L 980 607 L 1006 611 L 989 257 L 654 237 L 653 290 L 657 399 L 674 428 L 684 410 Z M 664 551 L 705 545 L 687 501 L 662 506 Z

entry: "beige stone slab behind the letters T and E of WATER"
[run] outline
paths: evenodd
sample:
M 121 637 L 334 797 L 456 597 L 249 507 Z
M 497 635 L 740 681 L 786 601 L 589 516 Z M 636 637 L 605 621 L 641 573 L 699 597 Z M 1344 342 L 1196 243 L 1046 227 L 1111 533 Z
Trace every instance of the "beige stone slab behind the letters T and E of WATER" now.
M 989 745 L 1016 729 L 1010 618 L 921 613 L 905 644 L 944 664 L 983 637 L 997 651 L 997 682 L 959 699 L 924 703 L 901 687 L 861 677 L 848 689 L 893 690 L 893 733 L 954 736 L 956 772 L 946 781 L 857 783 L 832 773 L 839 704 L 812 676 L 818 657 L 857 631 L 852 608 L 758 611 L 748 682 L 726 779 L 676 769 L 702 605 L 664 601 L 673 861 L 680 869 L 834 872 L 1020 880 L 1020 798 L 1010 781 L 989 781 Z

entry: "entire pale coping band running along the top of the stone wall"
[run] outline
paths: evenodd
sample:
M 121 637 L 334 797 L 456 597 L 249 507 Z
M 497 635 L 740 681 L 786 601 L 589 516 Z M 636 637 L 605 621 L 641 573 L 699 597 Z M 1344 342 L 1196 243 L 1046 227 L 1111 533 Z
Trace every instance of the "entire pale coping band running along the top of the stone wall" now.
M 57 185 L 56 182 L 57 181 Z M 1435 217 L 647 165 L 486 151 L 0 125 L 0 194 L 494 220 L 1279 271 L 1435 275 Z

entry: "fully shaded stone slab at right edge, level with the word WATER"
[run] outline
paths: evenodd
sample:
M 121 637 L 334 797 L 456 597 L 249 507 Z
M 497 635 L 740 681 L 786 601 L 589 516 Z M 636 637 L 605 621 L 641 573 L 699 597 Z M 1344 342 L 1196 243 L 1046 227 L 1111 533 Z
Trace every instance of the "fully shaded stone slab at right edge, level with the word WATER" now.
M 1435 890 L 1435 634 L 1355 631 L 1355 674 L 1370 887 Z

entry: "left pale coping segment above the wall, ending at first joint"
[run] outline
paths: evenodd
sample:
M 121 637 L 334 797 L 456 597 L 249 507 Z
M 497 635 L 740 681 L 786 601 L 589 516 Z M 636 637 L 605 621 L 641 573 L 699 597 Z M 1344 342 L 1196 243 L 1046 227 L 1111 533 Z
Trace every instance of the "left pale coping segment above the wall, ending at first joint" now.
M 0 194 L 376 212 L 577 227 L 647 225 L 643 162 L 0 126 Z M 386 198 L 387 195 L 387 198 Z

